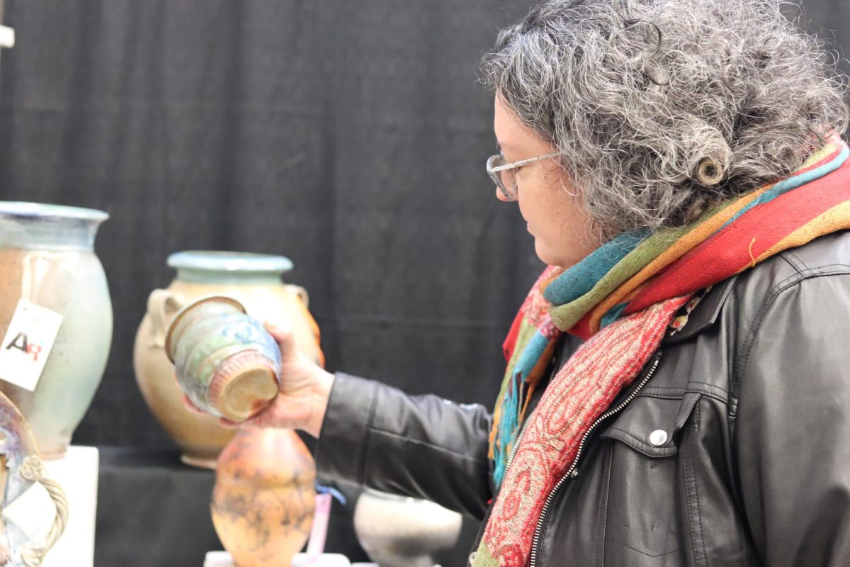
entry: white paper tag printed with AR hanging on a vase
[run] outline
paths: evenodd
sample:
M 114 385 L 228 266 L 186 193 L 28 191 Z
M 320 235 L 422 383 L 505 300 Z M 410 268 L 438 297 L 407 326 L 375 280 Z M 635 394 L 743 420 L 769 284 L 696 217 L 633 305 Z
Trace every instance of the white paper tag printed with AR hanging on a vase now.
M 61 325 L 61 314 L 20 299 L 0 343 L 0 379 L 36 389 Z

